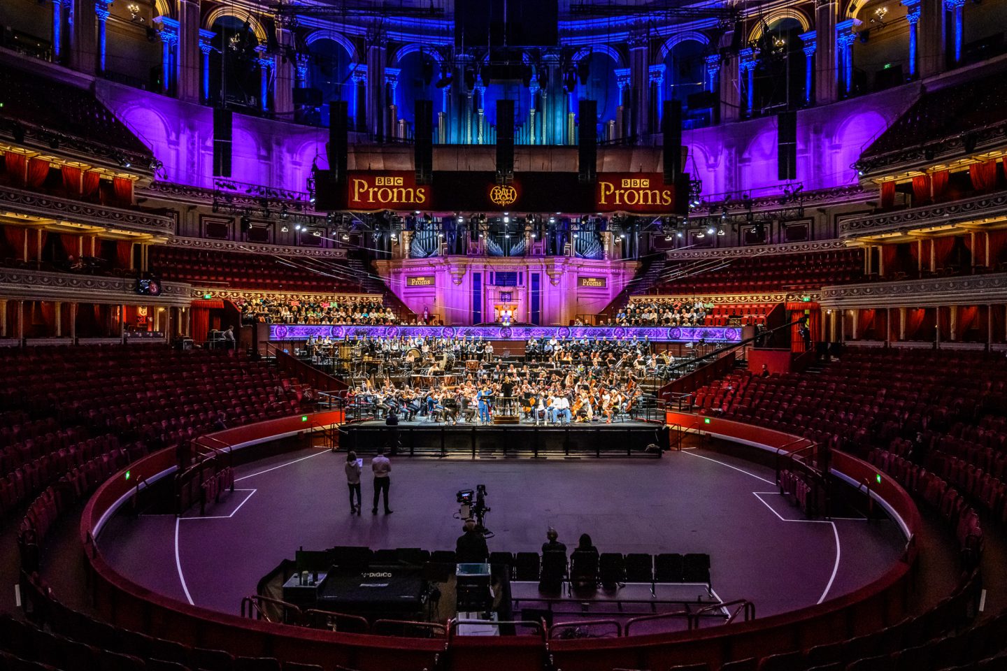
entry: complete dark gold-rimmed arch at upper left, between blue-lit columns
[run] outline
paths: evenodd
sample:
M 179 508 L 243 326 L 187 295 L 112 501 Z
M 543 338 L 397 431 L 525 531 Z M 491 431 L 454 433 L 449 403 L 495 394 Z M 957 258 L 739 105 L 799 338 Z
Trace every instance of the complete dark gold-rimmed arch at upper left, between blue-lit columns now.
M 222 16 L 211 30 L 217 34 L 209 53 L 210 100 L 218 105 L 259 109 L 259 39 L 252 27 L 237 16 Z

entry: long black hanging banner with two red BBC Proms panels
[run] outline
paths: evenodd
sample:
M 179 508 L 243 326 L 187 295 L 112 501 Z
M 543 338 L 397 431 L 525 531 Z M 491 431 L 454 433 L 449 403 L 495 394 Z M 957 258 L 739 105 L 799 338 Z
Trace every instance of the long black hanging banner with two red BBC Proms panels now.
M 595 183 L 581 182 L 577 173 L 523 172 L 498 184 L 492 172 L 438 171 L 431 184 L 417 184 L 411 171 L 351 170 L 340 184 L 319 171 L 315 185 L 319 210 L 662 215 L 685 205 L 682 189 L 666 185 L 661 173 L 642 172 L 599 173 Z

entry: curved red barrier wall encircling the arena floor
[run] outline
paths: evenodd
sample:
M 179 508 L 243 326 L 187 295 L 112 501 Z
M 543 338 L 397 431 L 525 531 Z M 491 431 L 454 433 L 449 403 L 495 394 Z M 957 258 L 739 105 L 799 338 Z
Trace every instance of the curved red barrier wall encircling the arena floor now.
M 271 420 L 213 435 L 230 445 L 260 442 L 273 436 L 307 430 L 309 425 L 337 421 L 332 412 Z M 693 426 L 702 417 L 669 413 L 669 423 Z M 775 451 L 798 437 L 726 420 L 710 418 L 704 432 Z M 128 498 L 135 483 L 174 467 L 174 454 L 161 451 L 139 460 L 104 483 L 88 502 L 81 520 L 81 540 L 93 572 L 95 607 L 117 625 L 141 629 L 162 638 L 228 650 L 244 656 L 269 656 L 325 669 L 336 666 L 384 671 L 390 668 L 431 668 L 445 652 L 444 639 L 406 639 L 308 630 L 242 619 L 191 606 L 146 590 L 118 574 L 101 549 L 90 542 L 93 532 L 118 502 Z M 874 492 L 903 520 L 908 533 L 919 528 L 919 513 L 911 497 L 895 481 L 866 462 L 834 453 L 833 469 L 862 482 L 873 479 Z M 909 543 L 911 547 L 911 542 Z M 874 582 L 818 606 L 762 620 L 708 630 L 654 634 L 618 639 L 552 640 L 538 637 L 456 637 L 447 650 L 447 665 L 461 669 L 477 665 L 487 671 L 538 671 L 546 655 L 561 668 L 610 671 L 613 667 L 666 668 L 673 664 L 708 662 L 712 667 L 730 659 L 761 657 L 867 634 L 894 624 L 905 615 L 908 573 L 914 553 L 892 566 Z

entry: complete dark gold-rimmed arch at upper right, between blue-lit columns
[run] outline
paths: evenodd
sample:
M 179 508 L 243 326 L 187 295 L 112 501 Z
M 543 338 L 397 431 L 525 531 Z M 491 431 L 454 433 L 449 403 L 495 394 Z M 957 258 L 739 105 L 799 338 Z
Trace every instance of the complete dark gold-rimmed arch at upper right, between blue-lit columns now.
M 755 114 L 774 114 L 805 105 L 806 58 L 801 32 L 800 21 L 782 18 L 756 40 Z

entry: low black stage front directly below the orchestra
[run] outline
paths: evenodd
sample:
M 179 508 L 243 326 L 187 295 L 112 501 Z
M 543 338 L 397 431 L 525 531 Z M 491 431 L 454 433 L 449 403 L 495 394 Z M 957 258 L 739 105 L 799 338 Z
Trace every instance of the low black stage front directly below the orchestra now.
M 343 427 L 339 448 L 361 455 L 374 454 L 380 446 L 390 449 L 384 423 Z M 529 425 L 484 427 L 399 427 L 400 456 L 407 457 L 643 457 L 660 458 L 649 445 L 668 447 L 660 436 L 661 425 L 632 424 L 592 427 L 546 428 Z

